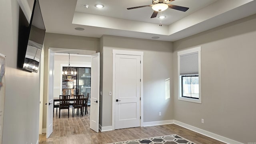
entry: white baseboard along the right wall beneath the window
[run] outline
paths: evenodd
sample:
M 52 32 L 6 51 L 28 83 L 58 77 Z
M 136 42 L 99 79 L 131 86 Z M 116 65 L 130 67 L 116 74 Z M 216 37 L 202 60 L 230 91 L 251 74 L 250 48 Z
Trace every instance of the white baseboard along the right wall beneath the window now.
M 208 131 L 206 131 L 206 130 L 202 130 L 202 129 L 200 129 L 200 128 L 196 128 L 196 127 L 194 127 L 194 126 L 190 126 L 190 125 L 188 125 L 188 124 L 185 124 L 185 123 L 183 123 L 183 122 L 179 122 L 179 121 L 177 121 L 177 120 L 174 120 L 174 124 L 177 124 L 177 125 L 179 125 L 179 126 L 182 126 L 182 127 L 184 127 L 184 128 L 187 128 L 187 129 L 192 130 L 192 131 L 194 131 L 194 132 L 197 132 L 197 133 L 199 133 L 199 134 L 203 134 L 203 135 L 208 136 L 208 137 L 210 137 L 210 138 L 213 138 L 213 139 L 215 139 L 215 140 L 218 140 L 218 141 L 221 141 L 221 142 L 225 142 L 225 143 L 227 143 L 227 144 L 243 144 L 243 143 L 241 143 L 241 142 L 237 142 L 237 141 L 235 141 L 235 140 L 231 140 L 231 139 L 229 139 L 229 138 L 225 138 L 224 136 L 220 136 L 220 135 L 218 135 L 218 134 L 214 134 L 214 133 L 212 133 L 212 132 L 208 132 Z

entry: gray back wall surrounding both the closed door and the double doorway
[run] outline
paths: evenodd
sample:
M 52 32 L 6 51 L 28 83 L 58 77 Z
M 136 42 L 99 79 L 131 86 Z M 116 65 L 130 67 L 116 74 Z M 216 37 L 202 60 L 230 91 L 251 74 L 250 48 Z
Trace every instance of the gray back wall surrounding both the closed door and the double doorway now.
M 172 42 L 102 36 L 88 38 L 64 34 L 46 33 L 44 102 L 47 102 L 48 48 L 74 48 L 100 52 L 100 125 L 112 126 L 112 49 L 144 52 L 144 122 L 172 120 L 172 97 L 165 100 L 165 79 L 172 82 Z M 152 59 L 154 58 L 154 59 Z M 172 86 L 171 86 L 172 92 Z M 162 112 L 162 116 L 158 116 Z M 44 106 L 43 128 L 46 128 L 46 107 Z

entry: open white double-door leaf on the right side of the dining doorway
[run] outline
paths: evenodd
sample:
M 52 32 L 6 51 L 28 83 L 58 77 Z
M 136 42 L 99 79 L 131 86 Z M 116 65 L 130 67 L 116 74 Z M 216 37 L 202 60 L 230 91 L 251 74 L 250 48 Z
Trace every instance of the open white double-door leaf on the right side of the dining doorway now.
M 91 69 L 91 112 L 90 128 L 99 132 L 99 114 L 100 114 L 100 53 L 92 55 Z

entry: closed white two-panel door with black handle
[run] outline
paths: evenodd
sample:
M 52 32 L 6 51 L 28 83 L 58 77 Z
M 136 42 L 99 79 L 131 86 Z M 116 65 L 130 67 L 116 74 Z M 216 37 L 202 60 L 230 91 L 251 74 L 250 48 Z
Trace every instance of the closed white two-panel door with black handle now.
M 140 56 L 116 54 L 115 129 L 140 126 Z

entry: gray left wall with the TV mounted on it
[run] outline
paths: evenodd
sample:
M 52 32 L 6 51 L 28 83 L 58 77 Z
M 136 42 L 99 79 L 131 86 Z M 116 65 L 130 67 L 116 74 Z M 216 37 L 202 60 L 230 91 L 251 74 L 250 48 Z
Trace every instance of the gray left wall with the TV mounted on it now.
M 6 55 L 3 144 L 36 144 L 39 124 L 39 73 L 17 69 L 17 0 L 0 1 L 0 53 Z

